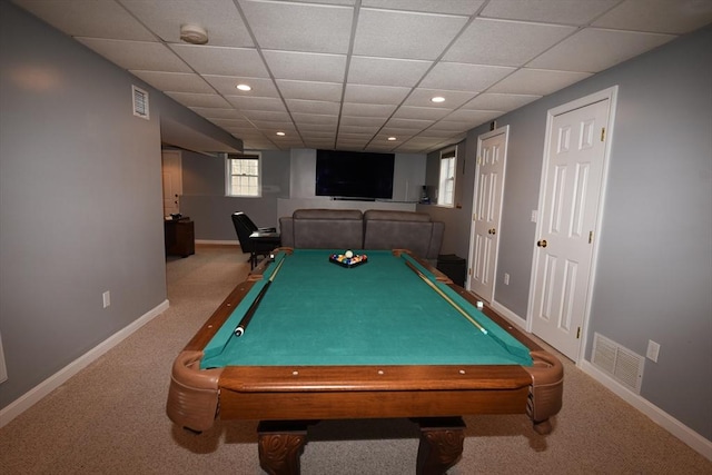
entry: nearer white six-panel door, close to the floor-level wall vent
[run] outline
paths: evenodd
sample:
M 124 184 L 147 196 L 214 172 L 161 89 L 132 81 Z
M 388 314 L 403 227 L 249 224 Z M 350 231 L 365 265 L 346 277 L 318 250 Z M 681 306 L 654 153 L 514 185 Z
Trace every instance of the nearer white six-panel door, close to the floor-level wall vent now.
M 611 98 L 550 111 L 534 253 L 532 330 L 578 359 L 587 315 Z

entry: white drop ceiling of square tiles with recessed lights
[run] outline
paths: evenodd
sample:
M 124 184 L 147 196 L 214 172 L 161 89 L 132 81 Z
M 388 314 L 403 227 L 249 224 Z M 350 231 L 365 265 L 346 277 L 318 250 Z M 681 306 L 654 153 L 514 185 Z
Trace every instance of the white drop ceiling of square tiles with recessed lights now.
M 712 22 L 712 0 L 13 1 L 261 150 L 437 150 Z

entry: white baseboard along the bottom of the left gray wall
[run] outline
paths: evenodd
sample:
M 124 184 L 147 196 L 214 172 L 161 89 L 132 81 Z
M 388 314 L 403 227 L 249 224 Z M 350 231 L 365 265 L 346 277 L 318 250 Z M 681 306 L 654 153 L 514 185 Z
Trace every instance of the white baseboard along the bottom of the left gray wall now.
M 129 326 L 115 333 L 109 338 L 105 339 L 99 345 L 95 346 L 89 352 L 85 353 L 79 358 L 75 359 L 69 365 L 61 368 L 59 372 L 55 373 L 42 383 L 38 384 L 32 389 L 18 397 L 7 407 L 0 409 L 0 427 L 3 427 L 10 420 L 14 419 L 17 416 L 32 407 L 41 398 L 65 384 L 70 377 L 75 376 L 77 373 L 89 366 L 92 362 L 95 362 L 109 349 L 113 348 L 116 345 L 129 337 L 140 327 L 156 318 L 158 315 L 166 311 L 168 309 L 168 300 L 164 300 L 157 307 L 152 308 L 144 316 L 132 321 Z

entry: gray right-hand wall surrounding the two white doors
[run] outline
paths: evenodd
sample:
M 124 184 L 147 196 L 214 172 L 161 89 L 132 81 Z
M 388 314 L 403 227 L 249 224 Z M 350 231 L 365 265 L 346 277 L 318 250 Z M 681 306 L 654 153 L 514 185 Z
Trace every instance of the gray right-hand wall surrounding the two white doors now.
M 526 317 L 547 110 L 614 85 L 587 347 L 595 331 L 641 355 L 649 339 L 661 344 L 659 362 L 645 364 L 641 395 L 712 439 L 712 27 L 497 119 L 510 125 L 497 281 L 505 271 L 511 280 L 495 299 Z M 469 131 L 468 158 L 487 130 Z M 465 180 L 472 197 L 474 171 Z M 461 256 L 468 200 L 462 210 L 419 207 L 444 217 L 444 250 Z

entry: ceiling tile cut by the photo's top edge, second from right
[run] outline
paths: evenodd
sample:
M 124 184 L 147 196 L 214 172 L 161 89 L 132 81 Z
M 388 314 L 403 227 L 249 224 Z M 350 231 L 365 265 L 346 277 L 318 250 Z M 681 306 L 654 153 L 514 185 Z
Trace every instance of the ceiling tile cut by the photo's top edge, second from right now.
M 587 24 L 621 0 L 491 0 L 483 17 Z

